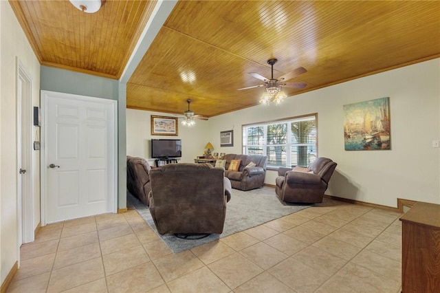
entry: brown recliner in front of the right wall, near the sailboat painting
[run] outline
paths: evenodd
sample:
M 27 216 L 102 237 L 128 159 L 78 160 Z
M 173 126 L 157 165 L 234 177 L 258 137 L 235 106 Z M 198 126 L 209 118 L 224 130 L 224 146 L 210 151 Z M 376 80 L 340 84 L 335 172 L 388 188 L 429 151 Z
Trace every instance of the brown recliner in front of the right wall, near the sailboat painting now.
M 329 158 L 317 158 L 309 168 L 278 169 L 275 192 L 283 202 L 313 204 L 322 202 L 336 162 Z M 294 168 L 296 169 L 296 168 Z

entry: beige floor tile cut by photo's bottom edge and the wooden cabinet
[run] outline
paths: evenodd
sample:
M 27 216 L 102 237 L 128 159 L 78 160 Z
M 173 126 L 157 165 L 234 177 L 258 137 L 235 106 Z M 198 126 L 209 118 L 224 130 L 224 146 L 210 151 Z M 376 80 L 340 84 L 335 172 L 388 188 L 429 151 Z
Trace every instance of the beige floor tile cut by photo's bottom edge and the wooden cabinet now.
M 354 263 L 347 263 L 333 277 L 333 281 L 342 283 L 356 292 L 400 292 L 400 283 L 376 274 Z

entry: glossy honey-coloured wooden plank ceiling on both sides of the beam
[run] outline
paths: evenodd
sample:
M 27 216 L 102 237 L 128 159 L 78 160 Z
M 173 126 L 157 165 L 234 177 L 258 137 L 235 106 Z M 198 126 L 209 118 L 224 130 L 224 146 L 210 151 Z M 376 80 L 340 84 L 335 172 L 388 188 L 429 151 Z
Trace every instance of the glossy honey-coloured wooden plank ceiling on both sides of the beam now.
M 41 64 L 120 78 L 155 1 L 10 1 Z M 257 105 L 305 67 L 287 96 L 440 57 L 440 1 L 178 1 L 127 84 L 128 108 L 206 117 Z M 325 98 L 325 97 L 323 97 Z

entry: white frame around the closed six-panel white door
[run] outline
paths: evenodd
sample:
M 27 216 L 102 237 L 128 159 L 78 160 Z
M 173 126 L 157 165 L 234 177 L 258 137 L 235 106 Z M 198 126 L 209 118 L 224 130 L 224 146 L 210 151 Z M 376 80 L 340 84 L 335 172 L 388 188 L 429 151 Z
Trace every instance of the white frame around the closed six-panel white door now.
M 118 107 L 116 100 L 109 100 L 104 98 L 94 98 L 90 96 L 80 96 L 76 94 L 65 94 L 56 91 L 41 90 L 41 226 L 45 226 L 47 223 L 47 169 L 49 162 L 47 162 L 47 133 L 45 123 L 47 122 L 47 102 L 50 97 L 67 98 L 69 100 L 80 100 L 85 102 L 99 102 L 110 104 L 113 107 L 113 128 L 114 128 L 114 142 L 113 150 L 109 156 L 113 158 L 113 174 L 111 174 L 111 180 L 108 180 L 108 190 L 113 191 L 109 193 L 109 211 L 118 213 Z

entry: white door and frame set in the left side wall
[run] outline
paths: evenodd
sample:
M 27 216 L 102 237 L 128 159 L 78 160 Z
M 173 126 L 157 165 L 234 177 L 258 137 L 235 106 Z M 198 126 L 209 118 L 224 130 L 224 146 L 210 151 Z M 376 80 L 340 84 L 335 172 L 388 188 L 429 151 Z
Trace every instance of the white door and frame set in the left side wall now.
M 16 57 L 17 77 L 17 243 L 34 241 L 34 177 L 32 156 L 32 78 Z M 21 175 L 20 169 L 26 173 Z M 20 250 L 19 250 L 20 251 Z

